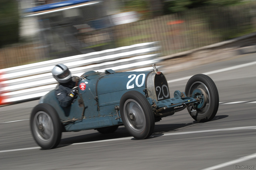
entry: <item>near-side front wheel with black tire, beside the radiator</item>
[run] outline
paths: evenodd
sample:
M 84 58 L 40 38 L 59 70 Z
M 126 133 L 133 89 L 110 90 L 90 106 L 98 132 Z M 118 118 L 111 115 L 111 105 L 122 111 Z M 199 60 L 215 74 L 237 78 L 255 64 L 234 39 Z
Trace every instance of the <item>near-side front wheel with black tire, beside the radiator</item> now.
M 140 92 L 128 91 L 121 97 L 120 114 L 125 128 L 134 138 L 146 139 L 153 133 L 153 110 Z

